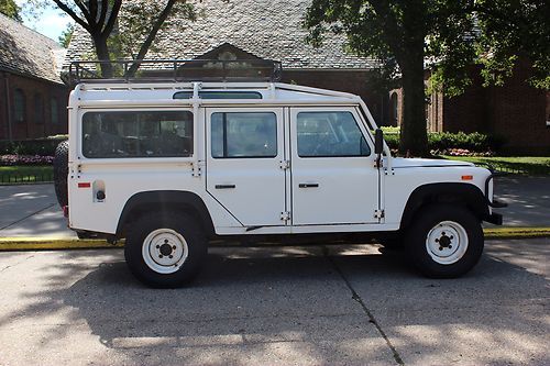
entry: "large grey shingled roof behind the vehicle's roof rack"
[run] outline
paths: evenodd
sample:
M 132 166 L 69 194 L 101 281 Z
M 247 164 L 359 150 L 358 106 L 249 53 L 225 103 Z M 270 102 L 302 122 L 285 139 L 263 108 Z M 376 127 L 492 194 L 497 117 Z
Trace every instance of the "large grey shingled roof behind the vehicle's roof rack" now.
M 231 44 L 260 58 L 279 60 L 287 69 L 372 69 L 377 66 L 373 59 L 345 53 L 344 36 L 329 35 L 320 48 L 306 44 L 307 31 L 301 27 L 301 21 L 310 0 L 193 2 L 199 19 L 196 22 L 170 19 L 157 35 L 155 51 L 150 51 L 146 58 L 193 59 L 222 44 Z M 89 36 L 78 30 L 67 60 L 87 58 L 91 49 Z

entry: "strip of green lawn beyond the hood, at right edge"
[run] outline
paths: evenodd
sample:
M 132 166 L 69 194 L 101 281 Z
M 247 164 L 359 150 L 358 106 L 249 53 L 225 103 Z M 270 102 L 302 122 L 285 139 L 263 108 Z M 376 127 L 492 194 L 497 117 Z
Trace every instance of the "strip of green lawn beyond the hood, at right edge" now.
M 490 164 L 497 170 L 513 174 L 550 175 L 550 157 L 546 156 L 441 156 L 450 160 Z

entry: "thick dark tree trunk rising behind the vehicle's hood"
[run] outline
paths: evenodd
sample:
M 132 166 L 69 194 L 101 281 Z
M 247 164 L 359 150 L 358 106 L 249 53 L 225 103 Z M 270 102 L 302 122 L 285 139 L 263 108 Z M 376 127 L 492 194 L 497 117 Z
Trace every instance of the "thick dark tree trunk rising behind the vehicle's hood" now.
M 424 43 L 420 49 L 422 49 Z M 424 85 L 424 52 L 410 55 L 403 71 L 403 124 L 399 151 L 414 156 L 427 156 L 426 92 Z

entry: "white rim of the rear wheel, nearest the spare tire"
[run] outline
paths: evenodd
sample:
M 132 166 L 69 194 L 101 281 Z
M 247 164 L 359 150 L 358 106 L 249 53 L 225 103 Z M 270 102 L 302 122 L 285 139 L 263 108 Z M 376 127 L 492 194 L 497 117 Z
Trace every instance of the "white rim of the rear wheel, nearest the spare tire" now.
M 142 246 L 147 267 L 163 275 L 177 271 L 187 259 L 189 248 L 184 236 L 172 229 L 158 229 L 145 237 Z

